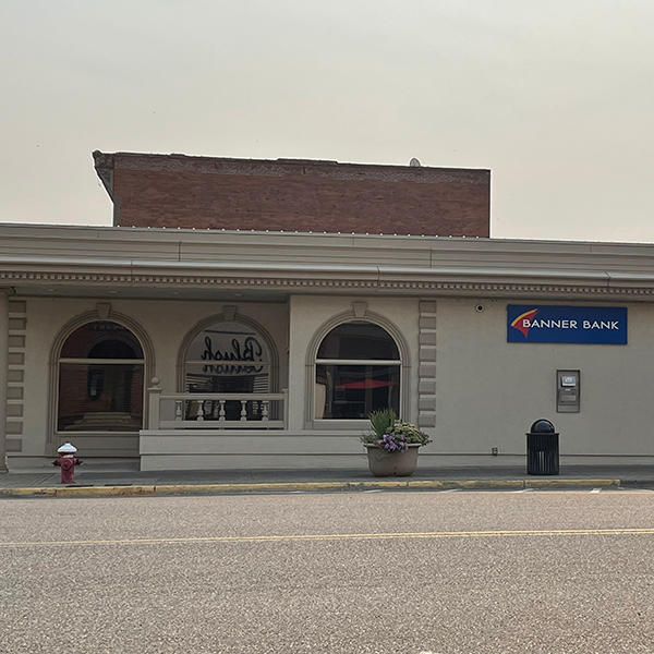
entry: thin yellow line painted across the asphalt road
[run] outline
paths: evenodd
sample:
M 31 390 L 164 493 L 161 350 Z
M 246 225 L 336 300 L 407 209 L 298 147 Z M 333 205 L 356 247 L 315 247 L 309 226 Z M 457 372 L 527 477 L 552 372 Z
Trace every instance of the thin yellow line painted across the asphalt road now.
M 117 538 L 97 541 L 25 541 L 0 547 L 59 547 L 64 545 L 154 545 L 178 543 L 283 543 L 293 541 L 388 541 L 398 538 L 497 538 L 514 536 L 626 536 L 654 535 L 654 529 L 556 529 L 514 531 L 398 532 L 379 534 L 274 534 L 262 536 L 199 536 L 182 538 Z

